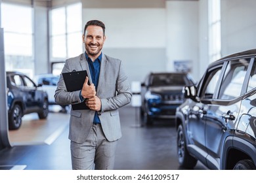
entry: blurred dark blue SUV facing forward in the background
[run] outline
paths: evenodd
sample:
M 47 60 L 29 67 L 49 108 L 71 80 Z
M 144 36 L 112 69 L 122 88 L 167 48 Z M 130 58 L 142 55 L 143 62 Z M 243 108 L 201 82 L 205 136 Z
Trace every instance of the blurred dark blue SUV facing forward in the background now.
M 154 118 L 175 118 L 176 108 L 184 102 L 182 88 L 194 84 L 187 73 L 150 73 L 142 82 L 140 113 L 146 124 Z

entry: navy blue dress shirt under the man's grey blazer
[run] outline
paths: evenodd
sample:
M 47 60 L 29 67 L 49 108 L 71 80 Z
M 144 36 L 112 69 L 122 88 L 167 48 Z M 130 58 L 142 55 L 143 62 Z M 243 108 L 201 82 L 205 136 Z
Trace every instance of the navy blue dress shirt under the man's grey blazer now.
M 85 58 L 88 61 L 90 74 L 91 74 L 91 80 L 93 84 L 95 84 L 95 90 L 98 88 L 98 77 L 100 76 L 100 61 L 102 58 L 102 53 L 98 58 L 95 59 L 95 61 L 92 61 L 91 58 L 87 55 L 85 52 Z M 98 117 L 98 112 L 95 111 L 95 117 L 93 119 L 94 124 L 100 124 L 100 118 Z

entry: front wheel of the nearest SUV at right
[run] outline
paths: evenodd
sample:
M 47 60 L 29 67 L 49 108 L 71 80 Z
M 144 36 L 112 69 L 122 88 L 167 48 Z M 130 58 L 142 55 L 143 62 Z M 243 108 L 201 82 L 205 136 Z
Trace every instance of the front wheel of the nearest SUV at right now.
M 179 163 L 181 167 L 192 169 L 196 166 L 196 163 L 198 162 L 198 160 L 190 156 L 190 154 L 188 153 L 188 150 L 186 149 L 186 141 L 185 141 L 182 125 L 179 125 L 177 135 L 178 135 L 177 153 L 178 153 Z

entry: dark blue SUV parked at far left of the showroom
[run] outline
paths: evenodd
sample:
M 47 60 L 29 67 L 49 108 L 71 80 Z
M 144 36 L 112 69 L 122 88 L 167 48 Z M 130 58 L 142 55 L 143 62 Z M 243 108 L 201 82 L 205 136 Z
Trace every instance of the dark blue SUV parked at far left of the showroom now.
M 31 78 L 18 72 L 7 72 L 9 129 L 18 129 L 22 116 L 37 112 L 40 119 L 48 116 L 48 95 Z

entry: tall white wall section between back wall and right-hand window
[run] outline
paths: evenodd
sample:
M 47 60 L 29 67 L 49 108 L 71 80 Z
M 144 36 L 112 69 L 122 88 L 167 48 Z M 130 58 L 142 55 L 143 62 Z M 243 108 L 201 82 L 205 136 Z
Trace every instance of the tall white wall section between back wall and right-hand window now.
M 174 61 L 190 61 L 195 79 L 199 60 L 198 7 L 198 1 L 166 1 L 167 69 L 174 71 Z

